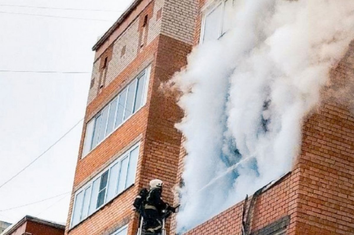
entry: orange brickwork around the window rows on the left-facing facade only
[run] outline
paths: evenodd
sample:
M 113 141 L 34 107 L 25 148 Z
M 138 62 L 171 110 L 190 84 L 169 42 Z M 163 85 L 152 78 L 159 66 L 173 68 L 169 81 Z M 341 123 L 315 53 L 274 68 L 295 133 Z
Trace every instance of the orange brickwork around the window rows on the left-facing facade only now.
M 107 137 L 101 144 L 91 151 L 84 159 L 81 159 L 82 145 L 85 136 L 85 127 L 82 131 L 81 144 L 79 150 L 78 164 L 74 178 L 74 187 L 72 199 L 69 207 L 69 215 L 67 224 L 70 224 L 72 214 L 74 193 L 83 184 L 92 177 L 96 176 L 104 167 L 119 156 L 119 153 L 124 151 L 124 148 L 133 141 L 139 139 L 141 141 L 139 161 L 137 168 L 137 176 L 141 174 L 141 162 L 144 157 L 144 136 L 147 126 L 148 110 L 150 105 L 150 97 L 152 93 L 152 83 L 154 81 L 154 54 L 157 50 L 158 38 L 155 39 L 149 46 L 142 50 L 137 58 L 129 64 L 122 73 L 120 73 L 114 81 L 107 87 L 103 88 L 102 92 L 87 106 L 85 123 L 91 120 L 96 113 L 101 110 L 112 98 L 116 96 L 132 79 L 135 78 L 147 65 L 152 65 L 149 80 L 149 91 L 147 103 L 128 119 L 122 126 Z M 138 177 L 137 177 L 138 179 Z M 102 234 L 111 233 L 125 225 L 129 220 L 134 218 L 132 214 L 132 201 L 138 192 L 139 181 L 137 184 L 127 189 L 118 199 L 114 199 L 99 211 L 93 213 L 89 218 L 77 225 L 72 230 L 67 226 L 66 234 Z M 113 227 L 113 228 L 112 228 Z M 132 226 L 129 227 L 129 233 Z

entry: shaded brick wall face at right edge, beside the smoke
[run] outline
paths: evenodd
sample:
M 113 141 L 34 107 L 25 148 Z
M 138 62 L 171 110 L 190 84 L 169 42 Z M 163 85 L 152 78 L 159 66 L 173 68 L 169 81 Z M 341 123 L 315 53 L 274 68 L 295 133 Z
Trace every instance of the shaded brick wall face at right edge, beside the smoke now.
M 344 92 L 353 89 L 353 71 L 354 41 L 332 72 L 324 103 L 304 125 L 297 234 L 354 234 L 353 93 Z

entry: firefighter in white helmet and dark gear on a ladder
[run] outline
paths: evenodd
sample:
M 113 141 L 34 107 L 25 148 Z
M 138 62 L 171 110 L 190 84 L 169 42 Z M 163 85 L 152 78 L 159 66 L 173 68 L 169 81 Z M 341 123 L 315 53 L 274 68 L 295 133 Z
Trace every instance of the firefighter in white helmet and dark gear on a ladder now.
M 160 234 L 162 220 L 167 218 L 172 212 L 176 213 L 177 207 L 171 207 L 162 200 L 162 185 L 163 182 L 160 179 L 151 180 L 150 190 L 146 195 L 146 199 L 142 202 L 143 212 L 141 212 L 141 215 L 144 217 L 143 227 L 145 235 Z M 144 196 L 140 194 L 137 196 L 137 199 L 141 200 Z

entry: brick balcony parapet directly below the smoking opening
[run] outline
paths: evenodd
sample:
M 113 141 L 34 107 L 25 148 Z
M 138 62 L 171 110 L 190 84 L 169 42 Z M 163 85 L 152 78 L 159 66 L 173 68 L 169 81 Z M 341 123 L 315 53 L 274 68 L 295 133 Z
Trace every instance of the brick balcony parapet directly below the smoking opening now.
M 291 218 L 288 225 L 289 230 L 295 226 L 296 200 L 294 200 L 294 197 L 298 190 L 298 175 L 298 171 L 293 171 L 256 199 L 256 205 L 250 211 L 252 213 L 250 223 L 251 232 L 255 232 L 288 215 Z M 250 200 L 251 198 L 249 202 Z M 186 235 L 241 234 L 243 207 L 244 201 L 239 202 L 235 206 L 190 230 Z M 247 204 L 247 210 L 248 208 L 249 203 Z

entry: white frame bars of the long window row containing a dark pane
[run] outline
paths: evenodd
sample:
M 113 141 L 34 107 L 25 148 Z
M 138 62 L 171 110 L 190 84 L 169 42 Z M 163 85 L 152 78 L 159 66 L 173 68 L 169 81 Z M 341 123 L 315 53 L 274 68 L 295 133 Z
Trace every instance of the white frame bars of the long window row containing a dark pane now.
M 71 218 L 70 218 L 70 229 L 76 227 L 78 224 L 80 224 L 82 221 L 84 221 L 85 219 L 87 219 L 88 217 L 90 217 L 92 214 L 96 213 L 96 211 L 100 210 L 102 207 L 104 207 L 106 204 L 108 204 L 110 201 L 114 200 L 116 197 L 118 197 L 120 194 L 124 193 L 124 191 L 131 187 L 132 185 L 135 184 L 135 180 L 136 180 L 136 172 L 135 172 L 135 176 L 134 176 L 134 180 L 133 180 L 133 183 L 130 184 L 130 185 L 127 185 L 127 176 L 128 176 L 128 173 L 129 173 L 129 166 L 130 166 L 130 157 L 131 157 L 131 152 L 133 150 L 135 150 L 137 148 L 137 151 L 138 151 L 138 155 L 137 155 L 137 163 L 139 162 L 139 158 L 140 158 L 140 155 L 139 155 L 139 151 L 140 151 L 140 142 L 139 143 L 136 143 L 134 144 L 132 147 L 130 147 L 128 150 L 126 150 L 123 154 L 121 154 L 116 160 L 114 160 L 111 164 L 109 164 L 109 166 L 105 167 L 101 172 L 99 172 L 95 177 L 93 177 L 92 179 L 90 179 L 89 182 L 87 182 L 85 185 L 83 185 L 82 187 L 80 187 L 78 190 L 75 191 L 75 195 L 74 195 L 74 202 L 73 202 L 73 208 L 71 210 Z M 125 182 L 124 182 L 124 190 L 122 190 L 120 193 L 118 193 L 118 182 L 119 182 L 119 174 L 120 174 L 120 166 L 121 166 L 121 161 L 128 158 L 128 165 L 127 165 L 127 173 L 126 173 L 126 178 L 125 178 Z M 119 164 L 119 170 L 118 170 L 118 181 L 115 185 L 115 194 L 114 196 L 112 197 L 112 199 L 107 200 L 107 194 L 108 194 L 108 187 L 109 187 L 109 177 L 110 177 L 110 172 L 111 172 L 111 168 L 115 165 L 115 164 Z M 136 169 L 137 169 L 138 166 L 136 166 Z M 92 192 L 93 192 L 93 182 L 95 182 L 95 180 L 97 180 L 98 178 L 100 178 L 105 172 L 107 172 L 108 170 L 108 178 L 107 178 L 107 185 L 106 185 L 106 191 L 105 191 L 105 195 L 104 195 L 104 202 L 101 206 L 97 207 L 97 202 L 96 201 L 96 205 L 94 205 L 95 207 L 95 210 L 92 211 L 92 213 L 90 214 L 90 202 L 91 202 L 91 197 L 92 197 Z M 99 182 L 101 184 L 101 182 Z M 90 198 L 89 198 L 89 207 L 88 207 L 88 212 L 87 212 L 87 216 L 86 218 L 82 218 L 81 219 L 81 215 L 82 215 L 82 209 L 83 209 L 83 205 L 84 205 L 84 199 L 85 199 L 85 190 L 87 188 L 91 187 L 91 195 L 90 195 Z M 99 186 L 98 186 L 99 187 Z M 98 200 L 98 195 L 99 195 L 99 191 L 98 190 L 98 194 L 97 194 L 97 200 Z M 80 206 L 80 214 L 79 214 L 79 222 L 75 225 L 72 224 L 73 222 L 73 217 L 74 217 L 74 210 L 75 210 L 75 203 L 76 203 L 76 196 L 79 194 L 79 193 L 83 193 L 83 196 L 82 196 L 82 203 L 81 203 L 81 206 Z

